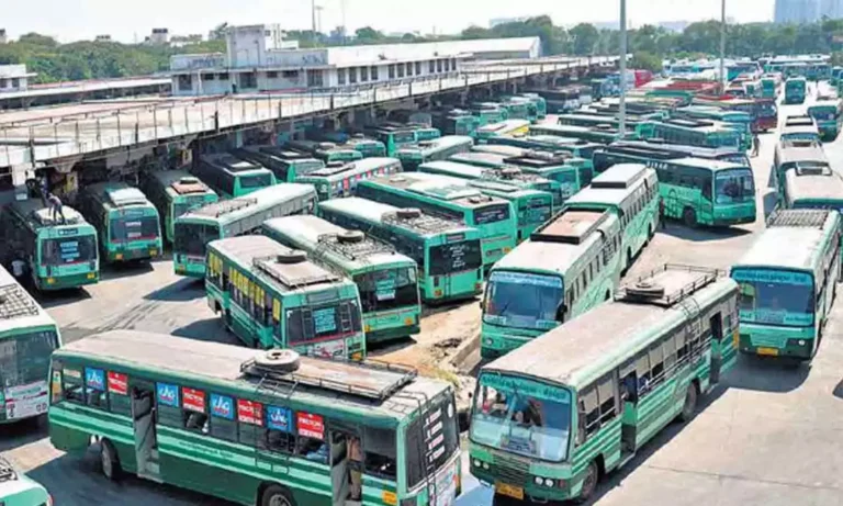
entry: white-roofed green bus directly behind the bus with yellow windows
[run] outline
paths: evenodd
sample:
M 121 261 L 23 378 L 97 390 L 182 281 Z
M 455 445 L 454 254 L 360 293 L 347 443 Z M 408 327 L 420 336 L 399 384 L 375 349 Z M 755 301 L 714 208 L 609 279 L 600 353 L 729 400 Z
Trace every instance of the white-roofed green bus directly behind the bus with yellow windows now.
M 317 216 L 267 220 L 261 229 L 357 284 L 367 345 L 420 331 L 416 262 L 392 245 Z

